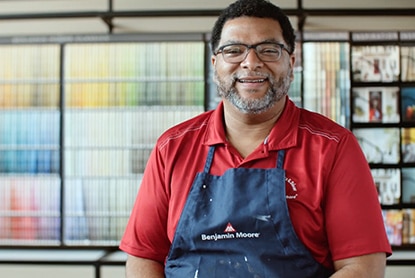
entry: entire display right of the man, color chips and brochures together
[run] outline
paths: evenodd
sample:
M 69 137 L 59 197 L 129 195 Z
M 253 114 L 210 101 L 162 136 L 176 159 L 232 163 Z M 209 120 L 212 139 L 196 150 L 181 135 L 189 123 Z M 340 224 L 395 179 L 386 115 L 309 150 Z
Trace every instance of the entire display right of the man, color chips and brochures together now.
M 415 243 L 414 42 L 413 32 L 305 32 L 302 41 L 303 107 L 354 132 L 389 240 L 394 249 L 409 250 Z M 371 109 L 374 102 L 380 111 Z

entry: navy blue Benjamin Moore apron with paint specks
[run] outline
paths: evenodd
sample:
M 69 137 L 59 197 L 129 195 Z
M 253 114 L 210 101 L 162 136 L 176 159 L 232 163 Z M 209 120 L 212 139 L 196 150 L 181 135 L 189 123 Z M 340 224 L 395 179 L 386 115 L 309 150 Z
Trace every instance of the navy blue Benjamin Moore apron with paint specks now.
M 198 173 L 177 224 L 166 277 L 305 278 L 332 272 L 297 238 L 285 195 L 285 151 L 277 167 L 209 174 L 215 147 Z

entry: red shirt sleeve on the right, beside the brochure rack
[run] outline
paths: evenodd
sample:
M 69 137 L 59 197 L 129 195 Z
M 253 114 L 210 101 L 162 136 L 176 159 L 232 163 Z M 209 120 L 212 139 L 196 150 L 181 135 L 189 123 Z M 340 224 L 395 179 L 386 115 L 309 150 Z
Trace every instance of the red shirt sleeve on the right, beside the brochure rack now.
M 340 141 L 328 175 L 326 231 L 333 260 L 391 254 L 372 174 L 352 133 Z

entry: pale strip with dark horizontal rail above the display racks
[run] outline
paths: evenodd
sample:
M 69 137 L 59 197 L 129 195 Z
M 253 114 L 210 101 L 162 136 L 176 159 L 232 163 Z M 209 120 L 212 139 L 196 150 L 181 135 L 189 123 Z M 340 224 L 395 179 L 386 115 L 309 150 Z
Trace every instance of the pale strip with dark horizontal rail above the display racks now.
M 233 0 L 0 0 L 0 36 L 208 33 Z M 272 0 L 304 31 L 415 31 L 414 0 Z M 305 20 L 302 20 L 305 19 Z

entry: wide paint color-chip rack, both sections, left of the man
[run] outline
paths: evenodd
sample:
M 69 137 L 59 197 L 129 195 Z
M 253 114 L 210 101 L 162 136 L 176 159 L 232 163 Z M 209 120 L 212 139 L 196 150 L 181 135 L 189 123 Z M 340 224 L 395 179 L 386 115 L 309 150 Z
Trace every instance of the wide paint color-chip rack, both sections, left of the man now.
M 1 246 L 118 246 L 156 139 L 205 107 L 203 37 L 162 37 L 3 38 Z

